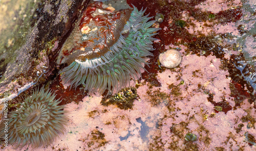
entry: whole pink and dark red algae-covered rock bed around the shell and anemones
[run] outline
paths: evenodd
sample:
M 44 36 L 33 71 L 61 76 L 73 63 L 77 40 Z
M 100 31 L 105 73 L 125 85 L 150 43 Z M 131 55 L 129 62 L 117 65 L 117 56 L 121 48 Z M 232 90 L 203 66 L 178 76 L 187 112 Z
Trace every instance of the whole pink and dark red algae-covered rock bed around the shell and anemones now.
M 139 10 L 146 6 L 145 14 L 151 13 L 148 16 L 164 15 L 162 23 L 153 24 L 153 28 L 162 30 L 153 36 L 155 50 L 152 48 L 153 56 L 145 61 L 148 67 L 135 72 L 140 76 L 146 69 L 148 73 L 142 73 L 138 80 L 129 76 L 126 82 L 130 81 L 132 87 L 113 95 L 91 94 L 82 99 L 74 95 L 75 101 L 65 105 L 64 115 L 70 120 L 64 135 L 48 146 L 22 149 L 256 150 L 255 90 L 243 79 L 253 68 L 246 66 L 246 71 L 240 72 L 234 65 L 244 61 L 239 60 L 243 54 L 236 41 L 242 34 L 241 27 L 236 26 L 242 3 L 127 2 Z M 121 1 L 114 4 L 121 5 Z M 169 49 L 176 49 L 182 56 L 173 69 L 158 62 L 159 54 Z M 66 59 L 63 53 L 60 56 Z M 131 95 L 132 103 L 125 106 Z

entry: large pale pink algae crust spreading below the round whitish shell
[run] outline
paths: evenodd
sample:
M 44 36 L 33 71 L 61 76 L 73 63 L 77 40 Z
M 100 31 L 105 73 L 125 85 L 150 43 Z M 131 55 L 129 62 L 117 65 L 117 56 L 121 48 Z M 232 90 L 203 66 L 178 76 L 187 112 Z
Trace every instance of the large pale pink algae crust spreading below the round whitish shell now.
M 184 52 L 183 52 L 184 54 Z M 197 63 L 194 63 L 195 61 Z M 208 101 L 214 94 L 214 101 L 234 106 L 230 97 L 227 71 L 220 70 L 220 59 L 215 56 L 183 55 L 179 68 L 159 73 L 157 78 L 162 86 L 151 87 L 141 81 L 137 89 L 139 99 L 132 110 L 120 110 L 115 105 L 103 106 L 102 97 L 85 97 L 79 104 L 67 104 L 70 117 L 65 136 L 49 147 L 75 150 L 214 150 L 223 148 L 237 150 L 240 147 L 253 148 L 246 142 L 244 131 L 255 135 L 253 128 L 238 124 L 246 122 L 246 111 L 255 112 L 245 100 L 236 110 L 217 113 Z M 197 71 L 196 71 L 197 70 Z M 196 71 L 196 72 L 195 72 Z M 181 75 L 179 77 L 179 75 Z M 205 76 L 207 75 L 207 76 Z M 183 84 L 180 84 L 184 81 Z M 172 87 L 175 85 L 175 87 Z M 150 90 L 150 93 L 148 91 Z M 152 99 L 151 93 L 156 94 Z M 164 97 L 166 94 L 167 97 Z M 158 103 L 156 101 L 159 100 Z M 255 118 L 253 114 L 251 114 Z M 247 129 L 247 130 L 246 130 Z M 185 135 L 197 136 L 194 142 L 187 142 Z M 227 144 L 225 142 L 228 142 Z M 44 148 L 44 149 L 47 149 Z M 168 149 L 169 148 L 169 149 Z M 176 148 L 176 149 L 174 149 Z M 40 150 L 40 149 L 35 149 Z

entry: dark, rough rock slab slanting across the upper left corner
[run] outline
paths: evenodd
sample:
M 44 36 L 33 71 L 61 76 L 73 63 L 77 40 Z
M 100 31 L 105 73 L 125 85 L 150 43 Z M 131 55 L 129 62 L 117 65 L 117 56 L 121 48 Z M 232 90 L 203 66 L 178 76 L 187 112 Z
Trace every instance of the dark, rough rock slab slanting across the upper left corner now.
M 72 30 L 73 22 L 87 1 L 45 1 L 33 4 L 29 18 L 17 26 L 30 26 L 22 37 L 14 37 L 11 46 L 1 52 L 0 97 L 7 92 L 9 99 L 22 91 L 47 81 L 55 75 L 55 59 L 59 47 Z M 33 8 L 32 7 L 32 8 Z M 24 9 L 30 9 L 27 6 Z M 16 34 L 16 36 L 20 36 Z M 20 42 L 19 38 L 23 41 Z M 10 37 L 10 39 L 12 39 Z M 56 76 L 56 75 L 55 75 Z

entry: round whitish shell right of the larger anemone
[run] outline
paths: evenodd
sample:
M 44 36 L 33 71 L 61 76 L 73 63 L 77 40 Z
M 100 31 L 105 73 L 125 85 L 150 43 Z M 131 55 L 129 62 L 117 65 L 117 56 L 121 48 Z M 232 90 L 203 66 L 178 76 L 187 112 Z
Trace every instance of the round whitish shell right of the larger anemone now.
M 181 54 L 174 49 L 167 50 L 159 54 L 159 61 L 160 63 L 166 68 L 175 68 L 181 62 Z

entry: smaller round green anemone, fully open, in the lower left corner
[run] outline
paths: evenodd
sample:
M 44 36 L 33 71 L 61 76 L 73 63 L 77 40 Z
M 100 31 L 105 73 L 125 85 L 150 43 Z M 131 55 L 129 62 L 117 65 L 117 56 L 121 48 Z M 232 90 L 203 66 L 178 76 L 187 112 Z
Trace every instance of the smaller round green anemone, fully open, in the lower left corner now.
M 65 132 L 64 125 L 68 122 L 63 115 L 66 113 L 64 106 L 58 105 L 61 101 L 55 96 L 49 89 L 46 92 L 44 88 L 34 91 L 16 111 L 9 113 L 8 132 L 1 127 L 1 139 L 8 134 L 8 143 L 15 148 L 25 145 L 35 148 L 52 143 L 58 132 Z

